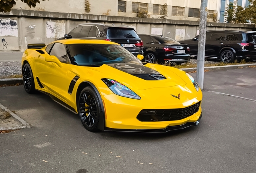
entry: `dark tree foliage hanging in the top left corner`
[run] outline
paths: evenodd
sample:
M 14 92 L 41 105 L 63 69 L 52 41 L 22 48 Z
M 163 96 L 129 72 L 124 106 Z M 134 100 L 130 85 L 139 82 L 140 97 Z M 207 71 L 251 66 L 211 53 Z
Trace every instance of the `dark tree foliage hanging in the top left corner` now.
M 0 0 L 0 12 L 10 12 L 12 7 L 16 4 L 17 0 Z M 37 3 L 40 4 L 39 0 L 21 0 L 29 7 L 35 7 Z M 45 1 L 45 0 L 41 0 Z

